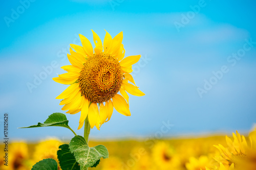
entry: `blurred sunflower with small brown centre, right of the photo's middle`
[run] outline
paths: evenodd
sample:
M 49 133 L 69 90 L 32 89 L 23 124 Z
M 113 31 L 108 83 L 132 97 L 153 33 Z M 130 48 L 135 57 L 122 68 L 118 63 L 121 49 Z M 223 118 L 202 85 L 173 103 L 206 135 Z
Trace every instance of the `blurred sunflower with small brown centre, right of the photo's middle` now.
M 152 149 L 152 157 L 160 169 L 175 169 L 180 166 L 180 160 L 166 142 L 158 142 Z

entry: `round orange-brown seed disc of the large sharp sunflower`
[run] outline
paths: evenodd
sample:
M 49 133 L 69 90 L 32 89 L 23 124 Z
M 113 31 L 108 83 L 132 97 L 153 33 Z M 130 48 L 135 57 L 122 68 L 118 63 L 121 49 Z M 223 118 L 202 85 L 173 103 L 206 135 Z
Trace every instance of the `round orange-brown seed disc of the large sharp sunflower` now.
M 92 103 L 110 100 L 121 88 L 123 76 L 118 61 L 107 54 L 91 56 L 78 78 L 81 94 Z

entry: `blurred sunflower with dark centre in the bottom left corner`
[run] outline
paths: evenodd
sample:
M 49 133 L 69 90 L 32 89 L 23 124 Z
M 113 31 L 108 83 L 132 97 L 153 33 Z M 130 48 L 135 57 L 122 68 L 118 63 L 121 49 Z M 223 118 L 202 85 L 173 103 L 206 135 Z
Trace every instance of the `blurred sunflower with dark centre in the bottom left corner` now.
M 1 156 L 2 157 L 2 156 Z M 27 170 L 32 165 L 29 161 L 28 145 L 25 142 L 13 142 L 9 145 L 8 166 L 4 165 L 1 158 L 0 169 Z

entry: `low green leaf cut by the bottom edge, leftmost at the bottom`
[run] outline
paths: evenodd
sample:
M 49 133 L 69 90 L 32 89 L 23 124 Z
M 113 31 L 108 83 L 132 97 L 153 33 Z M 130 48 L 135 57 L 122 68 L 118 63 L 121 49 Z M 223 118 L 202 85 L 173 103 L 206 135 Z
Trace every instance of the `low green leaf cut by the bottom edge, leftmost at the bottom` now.
M 52 158 L 43 159 L 43 160 L 37 162 L 36 164 L 34 164 L 34 166 L 32 167 L 31 170 L 42 170 L 42 169 L 44 169 L 44 170 L 58 170 L 58 164 Z

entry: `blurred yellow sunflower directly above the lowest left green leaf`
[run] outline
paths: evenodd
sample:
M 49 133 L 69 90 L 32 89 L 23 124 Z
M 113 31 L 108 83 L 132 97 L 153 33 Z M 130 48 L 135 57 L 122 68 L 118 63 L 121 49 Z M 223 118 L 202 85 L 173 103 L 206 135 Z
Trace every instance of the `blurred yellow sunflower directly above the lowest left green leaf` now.
M 39 162 L 42 159 L 52 158 L 58 162 L 57 151 L 59 150 L 59 145 L 63 144 L 57 139 L 47 139 L 39 142 L 35 146 L 35 151 L 33 154 L 33 163 Z M 60 169 L 58 165 L 58 169 Z

